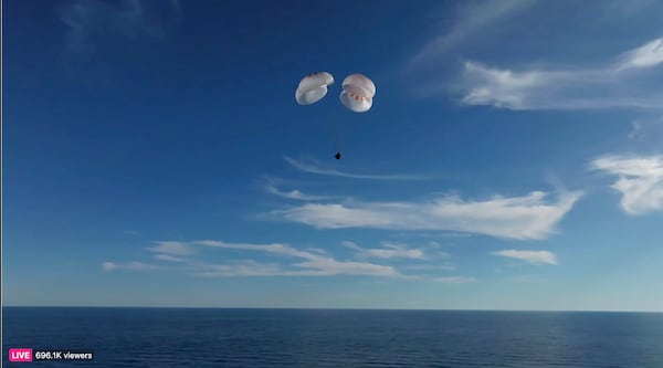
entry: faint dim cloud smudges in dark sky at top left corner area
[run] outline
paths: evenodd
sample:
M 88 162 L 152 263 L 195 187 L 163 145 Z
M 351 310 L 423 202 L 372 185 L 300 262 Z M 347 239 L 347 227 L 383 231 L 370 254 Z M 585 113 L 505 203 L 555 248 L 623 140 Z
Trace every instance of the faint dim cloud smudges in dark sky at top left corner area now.
M 71 51 L 92 54 L 108 36 L 161 39 L 181 18 L 179 0 L 76 0 L 60 9 Z

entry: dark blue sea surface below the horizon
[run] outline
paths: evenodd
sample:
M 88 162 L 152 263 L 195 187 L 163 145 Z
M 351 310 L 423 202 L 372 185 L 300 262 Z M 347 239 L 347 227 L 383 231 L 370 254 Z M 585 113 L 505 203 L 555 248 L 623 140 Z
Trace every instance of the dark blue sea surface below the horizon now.
M 35 367 L 663 367 L 663 314 L 6 307 Z

